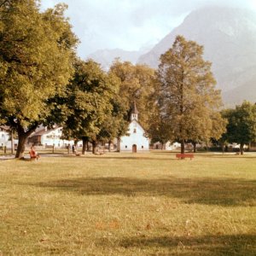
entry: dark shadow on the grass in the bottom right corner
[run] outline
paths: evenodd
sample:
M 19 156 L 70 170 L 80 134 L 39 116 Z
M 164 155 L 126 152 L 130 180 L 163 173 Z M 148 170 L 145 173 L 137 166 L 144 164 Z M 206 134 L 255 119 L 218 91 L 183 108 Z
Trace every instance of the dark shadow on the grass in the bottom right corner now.
M 177 253 L 178 255 L 256 255 L 256 235 L 160 236 L 153 238 L 135 236 L 120 241 L 119 246 L 151 248 L 151 250 L 162 247 L 166 248 L 168 253 Z

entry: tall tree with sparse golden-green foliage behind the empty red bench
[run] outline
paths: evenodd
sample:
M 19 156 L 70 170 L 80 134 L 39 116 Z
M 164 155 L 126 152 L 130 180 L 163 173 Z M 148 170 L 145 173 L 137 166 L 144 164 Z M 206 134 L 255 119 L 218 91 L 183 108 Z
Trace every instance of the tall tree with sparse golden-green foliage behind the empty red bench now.
M 202 55 L 202 46 L 177 36 L 172 48 L 160 56 L 157 71 L 160 115 L 172 136 L 181 143 L 182 154 L 186 141 L 223 133 L 222 129 L 213 132 L 221 97 L 215 89 L 211 63 L 204 61 Z

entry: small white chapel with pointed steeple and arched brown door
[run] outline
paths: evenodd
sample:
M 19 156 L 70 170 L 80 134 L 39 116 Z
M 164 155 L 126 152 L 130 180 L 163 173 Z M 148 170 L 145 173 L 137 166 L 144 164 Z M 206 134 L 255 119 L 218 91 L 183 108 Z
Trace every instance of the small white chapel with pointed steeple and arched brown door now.
M 131 111 L 131 123 L 127 135 L 120 137 L 117 145 L 119 152 L 147 152 L 149 150 L 149 139 L 145 137 L 145 131 L 138 123 L 138 111 L 134 102 Z

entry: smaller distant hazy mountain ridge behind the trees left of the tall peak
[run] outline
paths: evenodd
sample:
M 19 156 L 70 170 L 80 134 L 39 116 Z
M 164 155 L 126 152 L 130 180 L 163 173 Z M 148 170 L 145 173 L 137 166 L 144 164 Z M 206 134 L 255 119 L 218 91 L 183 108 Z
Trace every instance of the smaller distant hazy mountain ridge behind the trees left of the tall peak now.
M 148 48 L 140 49 L 138 51 L 128 51 L 124 49 L 100 49 L 90 54 L 89 59 L 100 63 L 104 70 L 108 70 L 114 59 L 119 58 L 121 61 L 130 61 L 136 64 L 138 58 L 146 53 Z

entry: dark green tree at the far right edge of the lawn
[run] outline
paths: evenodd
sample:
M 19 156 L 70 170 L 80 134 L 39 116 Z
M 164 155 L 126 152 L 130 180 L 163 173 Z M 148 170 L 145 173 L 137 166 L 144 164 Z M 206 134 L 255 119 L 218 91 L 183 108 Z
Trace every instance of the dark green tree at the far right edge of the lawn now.
M 234 109 L 225 109 L 222 114 L 228 120 L 222 139 L 240 144 L 240 153 L 243 154 L 244 145 L 256 140 L 256 105 L 243 102 Z

